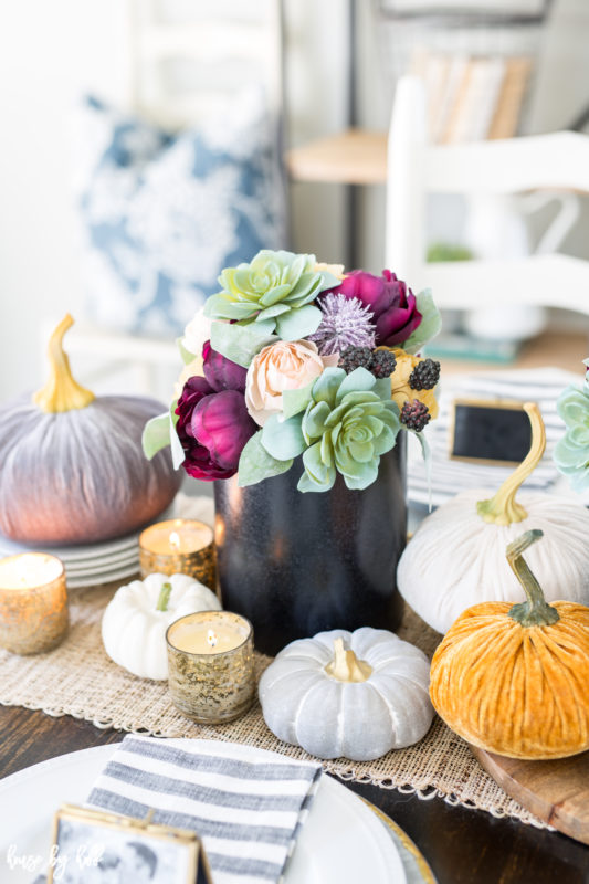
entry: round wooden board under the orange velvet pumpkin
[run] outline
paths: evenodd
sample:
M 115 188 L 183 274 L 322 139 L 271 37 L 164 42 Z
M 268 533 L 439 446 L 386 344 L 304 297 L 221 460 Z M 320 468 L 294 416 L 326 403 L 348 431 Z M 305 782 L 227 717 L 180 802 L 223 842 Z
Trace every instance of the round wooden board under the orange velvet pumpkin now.
M 556 761 L 523 761 L 471 749 L 507 794 L 555 829 L 589 844 L 589 751 Z

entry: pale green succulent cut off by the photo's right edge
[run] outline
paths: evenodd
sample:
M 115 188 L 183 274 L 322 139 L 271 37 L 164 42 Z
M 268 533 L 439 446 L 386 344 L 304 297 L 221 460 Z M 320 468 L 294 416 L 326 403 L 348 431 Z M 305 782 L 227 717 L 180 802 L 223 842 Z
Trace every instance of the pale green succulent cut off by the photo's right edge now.
M 558 397 L 557 411 L 567 429 L 555 448 L 555 463 L 576 492 L 589 488 L 589 359 L 582 388 L 569 386 Z

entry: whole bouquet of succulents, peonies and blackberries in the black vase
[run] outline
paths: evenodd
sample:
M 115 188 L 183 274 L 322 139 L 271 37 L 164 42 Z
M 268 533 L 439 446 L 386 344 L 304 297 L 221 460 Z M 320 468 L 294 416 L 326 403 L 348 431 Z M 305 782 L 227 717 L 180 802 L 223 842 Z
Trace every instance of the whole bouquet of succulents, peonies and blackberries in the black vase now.
M 361 490 L 401 429 L 437 415 L 440 366 L 416 356 L 440 329 L 428 291 L 266 250 L 219 283 L 179 341 L 185 369 L 169 414 L 146 425 L 148 457 L 171 444 L 189 475 L 239 472 L 245 486 L 303 455 L 299 491 L 337 473 Z

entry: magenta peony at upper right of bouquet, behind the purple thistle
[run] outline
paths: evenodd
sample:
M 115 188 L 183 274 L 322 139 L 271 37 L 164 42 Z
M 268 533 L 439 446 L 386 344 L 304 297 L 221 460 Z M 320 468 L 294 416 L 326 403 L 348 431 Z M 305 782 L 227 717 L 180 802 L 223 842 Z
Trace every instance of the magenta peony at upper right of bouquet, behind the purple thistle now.
M 371 311 L 376 322 L 377 347 L 404 344 L 421 323 L 416 296 L 390 270 L 383 270 L 381 276 L 355 270 L 329 294 L 357 298 Z

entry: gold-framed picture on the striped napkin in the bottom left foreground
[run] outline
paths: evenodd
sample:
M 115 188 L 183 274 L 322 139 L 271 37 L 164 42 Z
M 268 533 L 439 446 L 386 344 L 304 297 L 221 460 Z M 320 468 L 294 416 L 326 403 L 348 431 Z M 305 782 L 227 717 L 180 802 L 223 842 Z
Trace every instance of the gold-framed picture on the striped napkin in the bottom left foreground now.
M 99 810 L 62 804 L 53 820 L 53 848 L 48 884 L 88 878 L 138 884 L 212 884 L 211 871 L 200 838 L 186 829 L 151 822 L 154 811 L 137 820 Z M 80 875 L 72 877 L 77 866 Z

